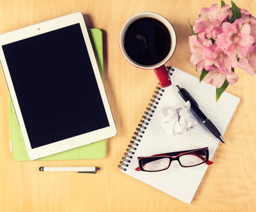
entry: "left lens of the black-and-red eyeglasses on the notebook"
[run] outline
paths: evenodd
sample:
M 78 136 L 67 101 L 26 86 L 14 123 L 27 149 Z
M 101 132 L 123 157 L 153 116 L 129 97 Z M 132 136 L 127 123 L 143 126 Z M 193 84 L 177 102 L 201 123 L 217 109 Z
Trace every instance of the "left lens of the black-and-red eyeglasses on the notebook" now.
M 142 160 L 145 171 L 161 171 L 169 166 L 169 158 L 145 158 Z

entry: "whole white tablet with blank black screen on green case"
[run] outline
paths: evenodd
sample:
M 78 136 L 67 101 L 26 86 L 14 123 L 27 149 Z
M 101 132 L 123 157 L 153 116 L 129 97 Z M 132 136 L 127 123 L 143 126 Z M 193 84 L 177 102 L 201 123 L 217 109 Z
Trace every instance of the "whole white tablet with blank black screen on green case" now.
M 1 34 L 0 60 L 30 159 L 116 135 L 81 13 Z

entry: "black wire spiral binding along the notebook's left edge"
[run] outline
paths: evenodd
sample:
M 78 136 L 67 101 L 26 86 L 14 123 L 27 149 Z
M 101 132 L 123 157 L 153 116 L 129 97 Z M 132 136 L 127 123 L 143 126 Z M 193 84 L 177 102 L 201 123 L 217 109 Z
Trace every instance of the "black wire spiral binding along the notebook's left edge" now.
M 169 67 L 169 66 L 167 66 L 166 68 L 168 69 L 168 74 L 171 76 L 172 75 L 171 71 L 174 71 L 174 69 L 172 69 L 172 67 Z M 157 105 L 159 103 L 158 101 L 161 100 L 161 96 L 163 96 L 164 91 L 165 90 L 161 88 L 160 83 L 158 83 L 158 86 L 154 91 L 155 95 L 152 95 L 153 99 L 150 100 L 151 103 L 148 103 L 148 106 L 150 107 L 147 107 L 146 108 L 147 111 L 144 112 L 146 116 L 145 115 L 142 116 L 144 120 L 142 119 L 140 120 L 142 124 L 141 123 L 138 124 L 139 127 L 136 128 L 136 132 L 134 132 L 134 135 L 136 136 L 132 137 L 132 140 L 130 141 L 131 144 L 128 145 L 128 149 L 126 149 L 126 152 L 124 153 L 125 157 L 122 157 L 122 160 L 119 162 L 120 163 L 118 165 L 119 169 L 122 169 L 123 171 L 127 170 L 126 167 L 129 166 L 129 163 L 133 158 L 132 155 L 135 154 L 137 146 L 140 145 L 140 138 L 143 138 L 143 134 L 145 133 L 144 130 L 147 129 L 146 126 L 148 125 L 148 122 L 151 120 L 150 117 L 153 116 L 154 110 L 157 108 Z M 159 95 L 160 97 L 157 95 Z

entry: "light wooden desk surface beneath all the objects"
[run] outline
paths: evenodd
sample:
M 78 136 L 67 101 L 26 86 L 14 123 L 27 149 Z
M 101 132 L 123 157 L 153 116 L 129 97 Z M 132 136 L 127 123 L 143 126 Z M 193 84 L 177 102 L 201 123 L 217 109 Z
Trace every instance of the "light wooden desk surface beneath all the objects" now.
M 151 70 L 129 64 L 118 46 L 119 30 L 141 11 L 162 14 L 177 32 L 167 65 L 199 76 L 190 61 L 187 18 L 194 24 L 202 7 L 216 0 L 0 0 L 0 33 L 80 11 L 88 27 L 104 32 L 105 89 L 118 134 L 107 141 L 102 160 L 16 162 L 9 144 L 8 89 L 0 71 L 0 212 L 170 212 L 256 211 L 256 76 L 243 70 L 227 92 L 241 98 L 192 203 L 185 204 L 117 168 L 157 85 Z M 256 15 L 253 0 L 236 0 Z M 230 3 L 230 0 L 226 0 Z M 219 3 L 220 4 L 220 3 Z M 100 166 L 96 175 L 42 173 L 39 166 Z

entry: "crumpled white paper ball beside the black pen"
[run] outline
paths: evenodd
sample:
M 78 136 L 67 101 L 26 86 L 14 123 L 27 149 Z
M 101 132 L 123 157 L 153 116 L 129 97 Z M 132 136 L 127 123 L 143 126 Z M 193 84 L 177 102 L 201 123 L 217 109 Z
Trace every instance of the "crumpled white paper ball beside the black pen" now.
M 183 105 L 163 108 L 165 118 L 161 122 L 168 135 L 181 135 L 194 129 L 197 121 L 190 116 L 190 102 Z

